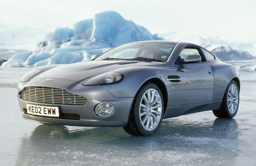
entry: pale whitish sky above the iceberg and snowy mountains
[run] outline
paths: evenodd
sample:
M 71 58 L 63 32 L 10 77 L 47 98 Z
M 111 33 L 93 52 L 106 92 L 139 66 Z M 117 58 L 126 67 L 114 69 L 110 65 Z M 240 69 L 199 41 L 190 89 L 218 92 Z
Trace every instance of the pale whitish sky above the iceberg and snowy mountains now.
M 0 0 L 0 30 L 66 27 L 106 10 L 152 34 L 256 42 L 256 0 Z

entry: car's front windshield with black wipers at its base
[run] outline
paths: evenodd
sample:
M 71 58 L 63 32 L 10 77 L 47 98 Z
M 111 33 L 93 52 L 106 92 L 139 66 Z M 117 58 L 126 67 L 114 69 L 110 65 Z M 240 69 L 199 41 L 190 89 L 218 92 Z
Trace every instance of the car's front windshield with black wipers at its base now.
M 166 62 L 176 44 L 130 43 L 115 47 L 94 60 L 138 60 Z

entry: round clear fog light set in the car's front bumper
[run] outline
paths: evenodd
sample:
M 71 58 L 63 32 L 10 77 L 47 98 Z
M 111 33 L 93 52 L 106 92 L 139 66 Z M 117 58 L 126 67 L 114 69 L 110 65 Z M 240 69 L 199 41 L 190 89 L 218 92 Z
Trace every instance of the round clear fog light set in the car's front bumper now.
M 115 112 L 115 106 L 109 102 L 101 102 L 95 106 L 95 113 L 98 117 L 109 117 Z

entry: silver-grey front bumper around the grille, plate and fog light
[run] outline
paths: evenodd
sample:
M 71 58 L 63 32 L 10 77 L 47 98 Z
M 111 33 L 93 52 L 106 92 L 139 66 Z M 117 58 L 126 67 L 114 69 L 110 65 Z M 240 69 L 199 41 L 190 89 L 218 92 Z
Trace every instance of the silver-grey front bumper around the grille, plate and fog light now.
M 43 86 L 65 89 L 74 95 L 87 99 L 85 105 L 63 105 L 28 102 L 20 99 L 19 93 L 28 86 Z M 115 98 L 102 86 L 82 86 L 78 82 L 70 80 L 44 78 L 34 79 L 26 83 L 18 84 L 18 100 L 22 117 L 26 120 L 46 124 L 61 124 L 71 126 L 125 126 L 128 122 L 133 97 Z M 102 118 L 95 114 L 94 108 L 100 102 L 110 102 L 115 106 L 115 113 L 110 117 Z M 29 115 L 26 111 L 26 104 L 41 106 L 58 106 L 61 116 L 58 118 Z

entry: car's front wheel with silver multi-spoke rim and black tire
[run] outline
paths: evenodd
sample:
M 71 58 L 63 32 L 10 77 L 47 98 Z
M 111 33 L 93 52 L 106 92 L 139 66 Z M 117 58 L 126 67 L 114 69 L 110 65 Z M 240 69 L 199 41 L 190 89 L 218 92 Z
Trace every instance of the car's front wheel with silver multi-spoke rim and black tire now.
M 156 84 L 146 84 L 134 98 L 128 123 L 123 127 L 124 131 L 137 136 L 154 134 L 161 125 L 163 111 L 164 102 L 161 90 Z

